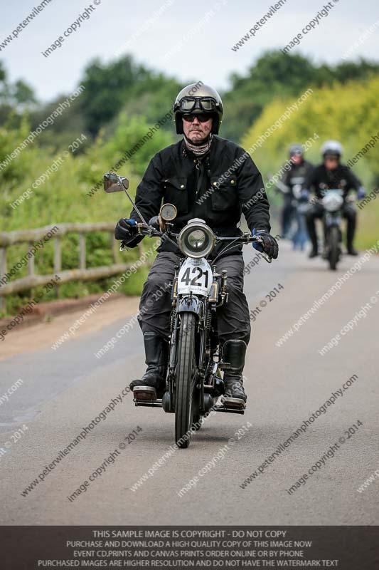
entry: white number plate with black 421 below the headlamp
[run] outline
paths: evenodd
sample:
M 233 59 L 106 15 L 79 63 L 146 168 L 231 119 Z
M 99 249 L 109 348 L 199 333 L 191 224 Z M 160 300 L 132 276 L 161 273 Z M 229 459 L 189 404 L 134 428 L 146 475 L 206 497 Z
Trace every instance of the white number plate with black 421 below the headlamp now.
M 206 259 L 188 257 L 178 274 L 178 295 L 190 291 L 198 295 L 208 296 L 212 286 L 212 269 Z

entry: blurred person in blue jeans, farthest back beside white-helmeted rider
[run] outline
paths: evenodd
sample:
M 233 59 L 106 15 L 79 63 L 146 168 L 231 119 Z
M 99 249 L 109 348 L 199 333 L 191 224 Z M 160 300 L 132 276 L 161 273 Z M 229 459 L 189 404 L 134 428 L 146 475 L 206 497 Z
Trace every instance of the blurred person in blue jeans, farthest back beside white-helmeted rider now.
M 284 174 L 281 177 L 280 183 L 277 185 L 279 192 L 283 195 L 283 208 L 282 208 L 282 235 L 287 236 L 291 228 L 292 219 L 295 217 L 297 221 L 297 229 L 292 235 L 294 247 L 297 244 L 301 249 L 306 242 L 304 236 L 304 219 L 302 214 L 298 211 L 300 192 L 303 190 L 304 182 L 314 170 L 314 165 L 308 160 L 304 159 L 304 150 L 302 145 L 295 142 L 289 147 L 289 168 L 285 168 Z M 286 166 L 288 165 L 286 163 Z

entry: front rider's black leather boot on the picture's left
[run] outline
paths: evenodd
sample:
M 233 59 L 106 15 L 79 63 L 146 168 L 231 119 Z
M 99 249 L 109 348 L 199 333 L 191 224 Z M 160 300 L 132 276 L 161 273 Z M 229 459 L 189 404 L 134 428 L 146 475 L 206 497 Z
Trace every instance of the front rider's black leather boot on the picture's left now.
M 144 347 L 146 355 L 146 372 L 142 376 L 141 380 L 133 380 L 129 386 L 130 388 L 137 388 L 139 386 L 150 386 L 155 388 L 155 393 L 162 391 L 166 380 L 166 365 L 169 356 L 169 343 L 164 340 L 159 334 L 156 333 L 144 333 Z M 140 395 L 139 395 L 140 396 Z M 154 392 L 146 390 L 145 398 L 154 398 Z M 142 397 L 142 394 L 141 394 Z

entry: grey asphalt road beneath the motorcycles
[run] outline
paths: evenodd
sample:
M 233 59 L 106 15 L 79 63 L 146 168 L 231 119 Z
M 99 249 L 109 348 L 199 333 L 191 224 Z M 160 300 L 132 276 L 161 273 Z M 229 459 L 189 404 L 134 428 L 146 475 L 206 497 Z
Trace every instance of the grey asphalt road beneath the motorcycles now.
M 248 248 L 246 263 L 253 255 Z M 276 262 L 262 260 L 252 268 L 245 289 L 250 308 L 260 311 L 245 367 L 246 413 L 208 418 L 188 450 L 170 457 L 165 453 L 174 443 L 174 416 L 136 408 L 130 394 L 116 400 L 144 370 L 139 328 L 102 358 L 94 356 L 129 316 L 119 314 L 56 351 L 47 346 L 1 361 L 0 395 L 23 380 L 0 405 L 1 524 L 379 524 L 379 479 L 357 491 L 379 469 L 379 304 L 370 301 L 377 291 L 379 301 L 379 258 L 364 261 L 293 336 L 275 344 L 356 261 L 344 257 L 331 272 L 321 259 L 309 261 L 282 243 Z M 274 287 L 279 293 L 270 301 L 266 295 Z M 351 330 L 321 355 L 353 318 Z M 342 395 L 300 432 L 347 381 Z M 112 399 L 114 410 L 46 470 Z M 288 443 L 295 431 L 300 435 Z M 160 459 L 154 475 L 132 490 Z M 316 462 L 320 467 L 289 494 Z M 86 485 L 97 469 L 101 475 Z M 242 488 L 255 470 L 259 475 Z

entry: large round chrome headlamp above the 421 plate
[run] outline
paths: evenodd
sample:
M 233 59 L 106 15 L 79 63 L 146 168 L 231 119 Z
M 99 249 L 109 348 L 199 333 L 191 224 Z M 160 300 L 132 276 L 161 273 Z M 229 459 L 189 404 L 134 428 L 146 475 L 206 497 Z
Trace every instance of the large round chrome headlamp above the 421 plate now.
M 188 257 L 205 257 L 215 247 L 215 234 L 203 220 L 191 220 L 178 235 L 178 247 Z

